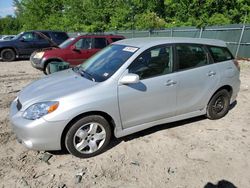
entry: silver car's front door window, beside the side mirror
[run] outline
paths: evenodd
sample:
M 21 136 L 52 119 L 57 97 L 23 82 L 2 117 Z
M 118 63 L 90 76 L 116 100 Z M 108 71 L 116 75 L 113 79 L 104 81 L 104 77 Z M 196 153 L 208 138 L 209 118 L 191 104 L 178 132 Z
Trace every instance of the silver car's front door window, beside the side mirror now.
M 129 73 L 139 75 L 140 79 L 171 73 L 173 70 L 172 54 L 171 46 L 147 50 L 129 66 Z

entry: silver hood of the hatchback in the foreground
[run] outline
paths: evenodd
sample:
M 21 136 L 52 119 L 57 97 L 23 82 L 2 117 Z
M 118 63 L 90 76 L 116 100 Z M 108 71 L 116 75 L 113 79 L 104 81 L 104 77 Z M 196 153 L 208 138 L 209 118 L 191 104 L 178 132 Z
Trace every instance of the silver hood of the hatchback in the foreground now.
M 88 80 L 72 69 L 68 69 L 32 82 L 20 91 L 18 99 L 25 109 L 34 103 L 58 100 L 96 84 L 97 82 Z

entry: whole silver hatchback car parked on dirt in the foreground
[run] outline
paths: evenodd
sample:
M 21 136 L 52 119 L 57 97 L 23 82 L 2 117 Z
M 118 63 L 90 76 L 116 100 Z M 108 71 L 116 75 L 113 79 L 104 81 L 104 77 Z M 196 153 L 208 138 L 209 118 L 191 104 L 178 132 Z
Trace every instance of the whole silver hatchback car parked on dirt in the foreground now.
M 101 153 L 112 134 L 200 115 L 222 118 L 239 87 L 239 65 L 223 41 L 126 39 L 26 86 L 10 119 L 27 148 L 67 148 L 85 158 Z

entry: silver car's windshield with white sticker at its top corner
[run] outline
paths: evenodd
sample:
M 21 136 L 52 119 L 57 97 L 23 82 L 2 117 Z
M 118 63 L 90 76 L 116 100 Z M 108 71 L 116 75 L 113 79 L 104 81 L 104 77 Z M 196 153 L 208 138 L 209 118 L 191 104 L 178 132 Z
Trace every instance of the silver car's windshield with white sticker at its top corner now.
M 124 45 L 110 45 L 79 66 L 79 70 L 102 82 L 111 77 L 138 48 Z

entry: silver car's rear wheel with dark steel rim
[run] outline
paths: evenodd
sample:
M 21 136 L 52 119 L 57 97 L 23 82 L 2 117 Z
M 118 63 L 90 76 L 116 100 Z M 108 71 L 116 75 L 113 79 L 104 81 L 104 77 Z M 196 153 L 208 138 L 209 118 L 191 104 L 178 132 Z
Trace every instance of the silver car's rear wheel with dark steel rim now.
M 222 89 L 213 95 L 207 106 L 207 117 L 215 120 L 224 117 L 230 107 L 230 94 Z

